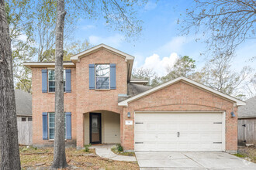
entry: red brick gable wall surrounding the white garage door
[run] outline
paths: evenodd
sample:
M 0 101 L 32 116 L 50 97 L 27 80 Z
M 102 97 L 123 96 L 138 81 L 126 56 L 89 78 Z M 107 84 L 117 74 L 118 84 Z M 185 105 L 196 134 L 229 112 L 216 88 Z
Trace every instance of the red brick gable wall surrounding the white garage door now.
M 237 107 L 233 103 L 217 97 L 213 93 L 193 87 L 188 83 L 178 82 L 162 90 L 151 93 L 146 97 L 134 100 L 123 107 L 122 123 L 126 120 L 134 122 L 134 111 L 139 110 L 164 110 L 164 111 L 226 111 L 226 150 L 237 150 Z M 231 117 L 234 111 L 236 117 Z M 127 118 L 127 112 L 131 117 Z M 125 150 L 134 150 L 134 124 L 124 125 L 121 131 L 121 143 Z

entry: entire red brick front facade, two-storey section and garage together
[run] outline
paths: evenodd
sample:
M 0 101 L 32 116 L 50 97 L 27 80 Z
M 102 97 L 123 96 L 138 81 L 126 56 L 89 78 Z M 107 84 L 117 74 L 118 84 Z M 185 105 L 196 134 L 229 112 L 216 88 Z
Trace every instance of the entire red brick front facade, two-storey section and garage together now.
M 88 66 L 96 63 L 116 63 L 116 90 L 89 90 Z M 147 97 L 118 107 L 118 94 L 127 93 L 127 65 L 123 57 L 106 49 L 89 54 L 71 69 L 71 93 L 64 93 L 64 110 L 71 112 L 72 140 L 67 143 L 84 145 L 84 114 L 95 110 L 109 110 L 120 115 L 121 142 L 125 150 L 134 148 L 134 127 L 126 126 L 126 120 L 134 119 L 138 110 L 222 110 L 226 116 L 226 149 L 237 150 L 237 117 L 230 117 L 230 111 L 237 115 L 237 107 L 229 100 L 217 97 L 184 82 L 175 83 Z M 46 68 L 33 68 L 33 145 L 52 145 L 53 141 L 43 141 L 42 113 L 54 112 L 54 93 L 42 93 L 42 73 Z M 131 118 L 127 118 L 127 112 Z M 134 122 L 134 120 L 133 120 Z M 124 127 L 124 128 L 123 128 Z

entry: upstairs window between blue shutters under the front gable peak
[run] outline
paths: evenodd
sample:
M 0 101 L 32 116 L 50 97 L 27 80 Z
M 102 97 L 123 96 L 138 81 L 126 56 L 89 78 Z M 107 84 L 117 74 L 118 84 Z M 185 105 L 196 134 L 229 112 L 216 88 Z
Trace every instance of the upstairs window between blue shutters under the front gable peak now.
M 109 64 L 95 65 L 96 89 L 109 89 Z

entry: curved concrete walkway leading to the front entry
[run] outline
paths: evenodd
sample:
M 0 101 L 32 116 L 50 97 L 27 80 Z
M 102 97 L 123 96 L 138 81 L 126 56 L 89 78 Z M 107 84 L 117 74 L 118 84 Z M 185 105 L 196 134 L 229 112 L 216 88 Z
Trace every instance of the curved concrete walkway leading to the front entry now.
M 114 145 L 92 145 L 90 148 L 95 148 L 95 152 L 102 158 L 109 158 L 115 161 L 122 162 L 137 162 L 135 156 L 116 155 L 111 151 Z

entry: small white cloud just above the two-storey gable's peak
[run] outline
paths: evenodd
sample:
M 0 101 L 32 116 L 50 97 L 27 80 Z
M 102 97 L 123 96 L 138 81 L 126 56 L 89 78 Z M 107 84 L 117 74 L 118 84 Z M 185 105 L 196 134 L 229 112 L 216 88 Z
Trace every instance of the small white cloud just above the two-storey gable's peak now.
M 114 46 L 117 48 L 123 42 L 123 36 L 119 34 L 109 37 L 89 36 L 89 42 L 93 45 L 105 43 L 108 46 Z

